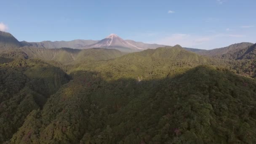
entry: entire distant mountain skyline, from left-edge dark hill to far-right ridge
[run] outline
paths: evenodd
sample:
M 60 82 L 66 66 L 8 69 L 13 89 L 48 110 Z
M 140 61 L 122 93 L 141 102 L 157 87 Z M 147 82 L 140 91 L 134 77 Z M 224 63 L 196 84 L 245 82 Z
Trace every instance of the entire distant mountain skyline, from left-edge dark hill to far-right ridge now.
M 216 48 L 212 50 L 203 50 L 197 48 L 184 48 L 187 51 L 192 51 L 203 56 L 212 56 L 224 59 L 241 59 L 245 49 L 252 46 L 253 43 L 236 43 L 224 48 Z M 0 49 L 6 48 L 73 48 L 73 49 L 88 49 L 88 48 L 107 48 L 117 49 L 122 52 L 138 52 L 146 49 L 155 49 L 160 47 L 171 47 L 168 45 L 148 44 L 136 42 L 134 40 L 123 40 L 115 34 L 111 34 L 102 40 L 71 40 L 71 41 L 43 41 L 43 42 L 19 42 L 13 35 L 8 32 L 0 31 Z M 249 51 L 249 50 L 248 50 Z

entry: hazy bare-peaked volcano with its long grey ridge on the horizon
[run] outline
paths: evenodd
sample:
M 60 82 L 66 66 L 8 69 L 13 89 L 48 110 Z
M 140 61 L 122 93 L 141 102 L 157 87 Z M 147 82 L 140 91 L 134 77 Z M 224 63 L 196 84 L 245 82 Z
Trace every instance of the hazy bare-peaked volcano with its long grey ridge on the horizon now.
M 111 34 L 103 40 L 72 40 L 72 41 L 43 41 L 43 42 L 20 42 L 22 47 L 33 48 L 114 48 L 123 52 L 143 51 L 148 48 L 159 48 L 166 45 L 147 44 L 133 40 L 123 40 L 121 37 Z

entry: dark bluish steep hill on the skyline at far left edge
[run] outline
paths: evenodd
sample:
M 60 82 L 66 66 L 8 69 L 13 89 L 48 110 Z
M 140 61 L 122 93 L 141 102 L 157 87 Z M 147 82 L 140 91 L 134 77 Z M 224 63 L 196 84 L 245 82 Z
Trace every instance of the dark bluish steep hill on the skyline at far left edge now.
M 19 48 L 20 42 L 8 32 L 0 31 L 0 49 Z

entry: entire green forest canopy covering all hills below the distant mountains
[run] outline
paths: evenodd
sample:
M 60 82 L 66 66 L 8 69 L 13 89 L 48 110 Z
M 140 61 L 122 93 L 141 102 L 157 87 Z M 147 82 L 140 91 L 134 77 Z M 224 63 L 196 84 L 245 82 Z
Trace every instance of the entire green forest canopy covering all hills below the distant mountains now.
M 0 50 L 0 143 L 256 143 L 251 43 L 135 53 L 9 46 Z

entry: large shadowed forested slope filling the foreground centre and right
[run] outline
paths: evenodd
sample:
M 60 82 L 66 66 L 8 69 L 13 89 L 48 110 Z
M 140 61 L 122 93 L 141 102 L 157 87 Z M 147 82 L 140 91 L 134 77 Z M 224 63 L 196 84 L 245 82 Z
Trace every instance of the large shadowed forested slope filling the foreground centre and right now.
M 77 72 L 42 110 L 27 116 L 10 142 L 256 142 L 256 83 L 251 79 L 207 66 L 140 82 L 101 76 Z

